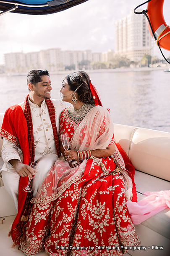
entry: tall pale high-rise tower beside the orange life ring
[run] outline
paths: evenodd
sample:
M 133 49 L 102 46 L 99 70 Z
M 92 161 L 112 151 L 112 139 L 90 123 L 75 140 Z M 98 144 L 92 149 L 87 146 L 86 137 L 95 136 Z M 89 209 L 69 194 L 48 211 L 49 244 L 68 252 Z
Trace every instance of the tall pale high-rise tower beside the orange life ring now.
M 141 60 L 151 55 L 152 37 L 147 28 L 146 17 L 131 14 L 115 23 L 115 53 L 131 60 Z

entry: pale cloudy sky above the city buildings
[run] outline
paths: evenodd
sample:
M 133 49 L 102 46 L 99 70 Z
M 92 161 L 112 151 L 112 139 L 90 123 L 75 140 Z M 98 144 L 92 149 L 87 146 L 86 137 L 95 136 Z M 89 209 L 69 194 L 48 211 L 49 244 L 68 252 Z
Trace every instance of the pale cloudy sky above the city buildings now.
M 68 10 L 48 15 L 6 13 L 0 16 L 0 64 L 4 53 L 61 50 L 114 50 L 115 22 L 130 14 L 143 0 L 88 0 Z M 145 10 L 147 4 L 143 7 Z M 164 18 L 170 24 L 170 1 Z M 169 51 L 164 51 L 166 57 Z M 154 55 L 161 57 L 158 47 Z

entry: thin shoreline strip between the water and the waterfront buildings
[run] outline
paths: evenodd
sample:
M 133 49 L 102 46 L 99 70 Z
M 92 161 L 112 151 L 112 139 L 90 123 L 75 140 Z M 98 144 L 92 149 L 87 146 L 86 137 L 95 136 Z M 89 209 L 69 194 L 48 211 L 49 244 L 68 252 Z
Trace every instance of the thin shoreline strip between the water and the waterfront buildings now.
M 116 68 L 116 69 L 85 69 L 87 73 L 114 73 L 114 72 L 141 72 L 141 71 L 154 71 L 154 70 L 165 70 L 169 71 L 169 65 L 165 67 L 139 67 L 139 68 Z M 60 71 L 54 71 L 50 72 L 50 75 L 63 75 L 68 74 L 72 72 L 79 71 L 78 70 L 60 70 Z M 21 73 L 3 73 L 0 74 L 0 76 L 25 76 L 27 75 L 27 72 L 21 72 Z

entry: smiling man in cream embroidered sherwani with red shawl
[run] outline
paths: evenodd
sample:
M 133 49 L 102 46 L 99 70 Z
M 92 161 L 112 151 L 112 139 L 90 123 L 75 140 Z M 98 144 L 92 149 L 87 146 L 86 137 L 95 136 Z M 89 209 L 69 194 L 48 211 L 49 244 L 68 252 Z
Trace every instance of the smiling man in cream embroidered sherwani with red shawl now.
M 27 75 L 27 85 L 29 95 L 23 103 L 6 110 L 0 130 L 4 161 L 2 179 L 16 208 L 18 200 L 27 195 L 22 187 L 27 185 L 28 176 L 32 178 L 30 163 L 36 161 L 39 169 L 32 180 L 34 196 L 60 156 L 59 117 L 65 108 L 63 101 L 50 100 L 52 87 L 47 70 L 31 70 Z

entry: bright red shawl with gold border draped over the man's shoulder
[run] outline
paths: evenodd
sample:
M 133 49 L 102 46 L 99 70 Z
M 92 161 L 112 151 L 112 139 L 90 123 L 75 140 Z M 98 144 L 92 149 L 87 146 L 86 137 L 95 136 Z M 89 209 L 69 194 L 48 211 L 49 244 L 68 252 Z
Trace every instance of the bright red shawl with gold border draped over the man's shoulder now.
M 30 154 L 29 154 L 29 141 L 27 123 L 24 116 L 23 109 L 19 105 L 9 107 L 4 115 L 2 128 L 0 135 L 16 144 L 23 152 L 23 163 L 29 165 Z M 28 177 L 20 177 L 19 182 L 19 193 L 18 193 L 18 213 L 12 225 L 11 236 L 13 241 L 16 239 L 18 233 L 18 224 L 20 222 L 24 205 L 27 196 L 31 197 L 29 193 L 24 192 L 22 189 L 28 184 Z M 22 191 L 21 191 L 22 189 Z M 29 194 L 29 195 L 28 195 Z M 31 198 L 30 198 L 31 199 Z M 17 241 L 16 241 L 17 243 Z

